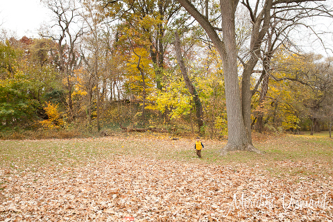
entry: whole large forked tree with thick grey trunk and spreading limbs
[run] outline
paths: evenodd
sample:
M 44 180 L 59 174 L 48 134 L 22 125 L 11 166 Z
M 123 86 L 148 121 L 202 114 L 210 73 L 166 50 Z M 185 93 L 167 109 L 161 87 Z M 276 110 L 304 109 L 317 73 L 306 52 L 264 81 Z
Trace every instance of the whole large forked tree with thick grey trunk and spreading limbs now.
M 178 0 L 178 2 L 191 14 L 202 26 L 210 40 L 219 51 L 223 61 L 223 72 L 225 76 L 225 98 L 228 114 L 228 144 L 221 150 L 227 151 L 248 150 L 260 153 L 252 144 L 251 139 L 251 76 L 253 69 L 260 58 L 260 47 L 267 34 L 273 17 L 279 17 L 281 12 L 311 13 L 313 10 L 327 9 L 323 5 L 314 7 L 305 6 L 309 2 L 317 1 L 280 1 L 280 0 L 257 0 L 255 4 L 249 1 L 220 0 L 221 28 L 214 27 L 208 17 L 201 14 L 189 0 Z M 246 7 L 252 22 L 250 44 L 248 46 L 247 60 L 243 61 L 244 69 L 241 78 L 241 93 L 239 87 L 239 76 L 237 70 L 237 56 L 239 51 L 236 44 L 235 13 L 239 3 Z M 221 31 L 223 38 L 216 31 Z

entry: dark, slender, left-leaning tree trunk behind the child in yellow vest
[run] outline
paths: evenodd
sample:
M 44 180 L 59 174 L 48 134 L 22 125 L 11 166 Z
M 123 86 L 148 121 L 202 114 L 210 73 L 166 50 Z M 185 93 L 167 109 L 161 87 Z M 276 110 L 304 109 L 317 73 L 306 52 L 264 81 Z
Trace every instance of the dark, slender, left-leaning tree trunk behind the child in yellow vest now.
M 185 83 L 187 85 L 187 88 L 189 89 L 189 93 L 193 96 L 194 103 L 196 105 L 196 118 L 198 119 L 198 133 L 202 134 L 202 126 L 203 126 L 203 105 L 201 105 L 201 101 L 198 95 L 198 92 L 196 91 L 196 87 L 191 83 L 191 80 L 189 80 L 189 76 L 187 75 L 187 69 L 185 67 L 184 60 L 182 59 L 182 51 L 180 50 L 180 37 L 175 32 L 175 49 L 176 49 L 176 56 L 178 60 L 178 64 L 180 67 L 180 71 L 182 72 L 182 76 L 184 77 Z

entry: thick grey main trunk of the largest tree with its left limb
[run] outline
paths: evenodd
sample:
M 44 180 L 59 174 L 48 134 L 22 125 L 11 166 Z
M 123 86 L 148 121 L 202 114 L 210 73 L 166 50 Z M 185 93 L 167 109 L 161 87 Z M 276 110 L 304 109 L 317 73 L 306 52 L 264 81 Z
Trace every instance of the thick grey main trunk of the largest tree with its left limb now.
M 236 11 L 238 1 L 220 0 L 223 41 L 221 41 L 219 35 L 217 35 L 214 27 L 210 24 L 207 17 L 201 15 L 193 4 L 191 4 L 188 0 L 178 0 L 178 2 L 196 19 L 200 26 L 205 29 L 207 35 L 212 40 L 222 58 L 225 80 L 225 99 L 228 116 L 228 144 L 221 149 L 221 154 L 225 155 L 228 151 L 234 150 L 248 150 L 260 153 L 260 151 L 255 148 L 251 142 L 250 128 L 246 129 L 246 125 L 248 123 L 248 126 L 250 126 L 250 115 L 246 113 L 246 121 L 244 121 L 242 111 L 242 101 L 238 80 L 239 76 L 237 71 L 236 34 L 234 26 L 234 12 Z M 248 80 L 246 81 L 246 84 L 248 85 Z M 249 87 L 246 87 L 246 90 L 248 90 L 246 94 L 250 94 Z M 248 108 L 248 101 L 250 100 L 246 98 L 246 107 L 244 107 L 244 109 Z

